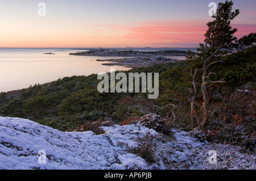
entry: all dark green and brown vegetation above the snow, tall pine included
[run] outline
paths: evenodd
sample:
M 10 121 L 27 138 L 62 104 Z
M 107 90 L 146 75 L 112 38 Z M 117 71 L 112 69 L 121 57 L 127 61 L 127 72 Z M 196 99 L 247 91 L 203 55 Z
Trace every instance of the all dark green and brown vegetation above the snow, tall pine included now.
M 124 71 L 159 73 L 158 99 L 147 99 L 147 93 L 101 94 L 96 74 L 73 76 L 30 86 L 18 97 L 2 92 L 0 116 L 23 117 L 61 131 L 90 127 L 100 132 L 95 125 L 104 121 L 123 125 L 156 113 L 168 120 L 167 127 L 187 131 L 197 127 L 200 139 L 253 150 L 256 33 L 240 40 L 233 36 L 237 29 L 230 27 L 230 21 L 239 10 L 232 12 L 232 5 L 232 1 L 219 3 L 215 20 L 207 24 L 205 44 L 196 54 L 188 51 L 187 60 Z

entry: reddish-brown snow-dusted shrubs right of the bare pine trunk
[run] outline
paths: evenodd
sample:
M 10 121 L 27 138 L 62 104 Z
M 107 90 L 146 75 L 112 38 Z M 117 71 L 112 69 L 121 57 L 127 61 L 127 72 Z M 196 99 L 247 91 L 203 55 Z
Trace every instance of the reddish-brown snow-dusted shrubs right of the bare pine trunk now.
M 212 141 L 255 149 L 255 93 L 254 86 L 245 85 L 230 95 L 212 100 L 210 122 L 203 130 L 206 136 Z

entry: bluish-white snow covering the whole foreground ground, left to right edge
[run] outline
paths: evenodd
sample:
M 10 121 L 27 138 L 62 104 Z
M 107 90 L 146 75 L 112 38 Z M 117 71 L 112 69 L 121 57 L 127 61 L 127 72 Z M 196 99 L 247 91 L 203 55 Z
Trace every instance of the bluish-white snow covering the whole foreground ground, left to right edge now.
M 27 119 L 0 117 L 0 169 L 123 170 L 123 169 L 256 169 L 255 154 L 231 145 L 200 142 L 188 132 L 172 130 L 175 141 L 141 124 L 102 127 L 104 134 L 61 132 Z M 150 134 L 155 162 L 128 151 Z M 147 141 L 147 140 L 144 140 Z M 39 163 L 39 151 L 46 162 Z M 208 161 L 216 150 L 217 163 Z

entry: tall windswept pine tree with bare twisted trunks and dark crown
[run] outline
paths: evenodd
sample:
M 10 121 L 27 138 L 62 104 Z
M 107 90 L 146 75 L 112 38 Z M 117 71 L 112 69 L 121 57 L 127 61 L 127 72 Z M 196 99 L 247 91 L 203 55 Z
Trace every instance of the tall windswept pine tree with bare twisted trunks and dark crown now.
M 208 30 L 205 33 L 205 44 L 200 44 L 200 48 L 197 49 L 199 53 L 196 56 L 192 57 L 190 62 L 193 66 L 198 65 L 198 62 L 201 62 L 203 68 L 196 68 L 195 73 L 191 76 L 193 77 L 193 87 L 194 91 L 191 90 L 193 94 L 193 98 L 189 99 L 191 102 L 191 123 L 193 129 L 194 119 L 196 118 L 198 125 L 198 129 L 202 129 L 205 124 L 208 122 L 208 84 L 209 83 L 223 83 L 225 82 L 223 79 L 220 81 L 210 81 L 210 75 L 214 74 L 209 71 L 210 66 L 221 62 L 221 58 L 232 51 L 233 48 L 236 48 L 236 40 L 237 37 L 234 36 L 234 33 L 237 32 L 236 28 L 232 28 L 230 23 L 236 18 L 238 14 L 240 14 L 239 10 L 235 10 L 232 12 L 232 1 L 226 1 L 225 3 L 219 3 L 218 9 L 215 15 L 212 16 L 214 18 L 213 21 L 207 23 Z M 203 121 L 199 120 L 199 117 L 196 115 L 195 110 L 195 99 L 197 94 L 197 85 L 196 85 L 196 74 L 199 71 L 203 71 L 202 82 L 201 82 L 201 91 L 203 93 L 203 106 L 201 110 L 203 111 Z

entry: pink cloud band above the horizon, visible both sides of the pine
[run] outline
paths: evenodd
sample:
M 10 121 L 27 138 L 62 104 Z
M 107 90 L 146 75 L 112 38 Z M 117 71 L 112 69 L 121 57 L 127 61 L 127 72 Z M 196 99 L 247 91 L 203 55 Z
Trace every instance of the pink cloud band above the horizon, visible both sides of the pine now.
M 134 42 L 146 47 L 197 47 L 204 42 L 207 31 L 207 21 L 204 20 L 170 20 L 155 22 L 138 22 L 124 25 L 100 25 L 96 32 L 108 30 L 110 34 L 99 36 L 116 41 Z M 256 32 L 256 24 L 234 23 L 238 38 Z M 117 31 L 119 32 L 117 35 Z M 93 37 L 93 36 L 91 36 Z

